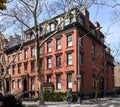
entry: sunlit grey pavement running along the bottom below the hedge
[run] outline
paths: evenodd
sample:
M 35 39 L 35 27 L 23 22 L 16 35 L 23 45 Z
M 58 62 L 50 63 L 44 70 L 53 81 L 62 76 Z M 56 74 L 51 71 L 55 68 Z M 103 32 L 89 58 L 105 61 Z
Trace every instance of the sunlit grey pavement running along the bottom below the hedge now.
M 67 102 L 46 102 L 44 107 L 120 107 L 120 97 L 102 98 L 98 102 L 94 100 L 84 100 L 82 104 Z M 38 102 L 24 102 L 21 107 L 38 107 Z

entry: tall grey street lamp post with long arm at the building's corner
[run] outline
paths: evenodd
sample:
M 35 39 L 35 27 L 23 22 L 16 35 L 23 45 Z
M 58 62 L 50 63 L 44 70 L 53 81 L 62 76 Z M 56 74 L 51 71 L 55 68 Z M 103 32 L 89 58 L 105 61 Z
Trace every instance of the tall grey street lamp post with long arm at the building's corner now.
M 96 30 L 99 30 L 101 29 L 102 27 L 97 27 L 93 30 L 90 30 L 88 33 L 86 33 L 85 35 L 83 35 L 82 37 L 79 37 L 78 38 L 78 73 L 77 73 L 77 80 L 78 80 L 78 93 L 81 91 L 80 88 L 81 88 L 81 73 L 80 73 L 80 46 L 81 46 L 81 39 L 86 37 L 88 34 L 92 33 L 93 31 L 96 31 Z M 79 98 L 79 95 L 78 95 L 78 102 L 80 102 L 80 98 Z

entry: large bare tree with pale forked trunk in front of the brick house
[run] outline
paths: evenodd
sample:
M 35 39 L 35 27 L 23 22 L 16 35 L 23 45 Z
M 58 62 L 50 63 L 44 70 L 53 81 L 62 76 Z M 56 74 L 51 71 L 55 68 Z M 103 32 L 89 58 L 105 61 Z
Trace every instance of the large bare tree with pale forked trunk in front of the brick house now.
M 15 27 L 19 29 L 28 29 L 32 32 L 35 37 L 36 46 L 36 72 L 39 76 L 39 104 L 44 105 L 43 96 L 43 79 L 42 72 L 40 70 L 40 47 L 51 37 L 53 37 L 58 31 L 61 24 L 66 18 L 70 17 L 70 10 L 77 7 L 81 11 L 83 8 L 89 8 L 96 4 L 97 0 L 54 0 L 50 2 L 49 0 L 12 0 L 9 2 L 8 10 L 0 12 L 1 16 L 12 19 Z M 53 7 L 53 8 L 50 8 Z M 63 20 L 56 26 L 56 30 L 51 33 L 46 38 L 40 38 L 47 32 L 47 27 L 49 25 L 49 19 L 58 13 L 65 12 Z M 46 26 L 41 31 L 39 23 L 46 20 Z M 4 21 L 5 22 L 5 21 Z M 19 26 L 19 27 L 18 27 Z M 34 26 L 34 27 L 32 27 Z M 12 26 L 13 27 L 13 26 Z M 12 61 L 11 61 L 12 62 Z M 5 72 L 7 72 L 7 67 L 5 67 Z

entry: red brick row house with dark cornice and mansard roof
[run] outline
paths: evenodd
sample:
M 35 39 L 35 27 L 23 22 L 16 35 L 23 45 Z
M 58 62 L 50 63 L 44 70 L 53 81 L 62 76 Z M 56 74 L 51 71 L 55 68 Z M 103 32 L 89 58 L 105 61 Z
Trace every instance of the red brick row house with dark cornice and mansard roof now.
M 90 95 L 95 92 L 95 77 L 99 73 L 99 90 L 111 93 L 114 87 L 114 58 L 104 44 L 103 33 L 100 29 L 95 30 L 100 28 L 100 24 L 93 24 L 89 20 L 86 9 L 79 14 L 77 9 L 73 9 L 71 14 L 72 17 L 66 18 L 61 24 L 61 30 L 40 48 L 43 90 L 65 92 L 72 88 L 72 91 L 80 89 L 84 94 Z M 64 14 L 61 14 L 48 21 L 47 32 L 42 38 L 54 32 L 56 24 L 63 17 Z M 46 22 L 40 24 L 41 29 L 44 24 Z M 26 93 L 25 97 L 35 98 L 38 97 L 38 74 L 34 35 L 29 30 L 25 31 L 25 35 L 26 42 L 9 67 L 5 84 L 10 93 L 21 91 Z M 20 44 L 6 49 L 7 62 L 14 57 L 19 47 Z M 2 81 L 0 90 L 2 91 Z

